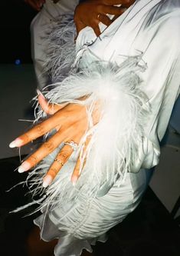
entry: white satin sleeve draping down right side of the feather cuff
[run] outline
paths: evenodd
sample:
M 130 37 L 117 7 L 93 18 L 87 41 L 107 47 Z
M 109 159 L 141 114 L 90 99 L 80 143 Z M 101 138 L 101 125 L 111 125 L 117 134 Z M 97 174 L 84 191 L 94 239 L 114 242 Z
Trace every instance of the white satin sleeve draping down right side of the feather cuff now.
M 139 147 L 139 160 L 132 171 L 152 168 L 159 163 L 160 143 L 169 125 L 172 108 L 179 95 L 180 85 L 180 12 L 173 12 L 152 22 L 136 41 L 134 48 L 142 50 L 147 69 L 142 73 L 142 91 L 151 105 L 146 137 Z M 141 40 L 146 45 L 139 47 Z M 144 46 L 145 47 L 145 46 Z

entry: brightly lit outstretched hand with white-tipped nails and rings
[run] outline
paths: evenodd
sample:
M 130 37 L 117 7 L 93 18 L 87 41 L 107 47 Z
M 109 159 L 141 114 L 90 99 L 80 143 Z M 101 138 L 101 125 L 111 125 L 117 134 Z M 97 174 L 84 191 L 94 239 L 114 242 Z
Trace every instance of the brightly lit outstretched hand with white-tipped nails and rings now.
M 9 147 L 15 148 L 26 145 L 30 141 L 47 134 L 47 132 L 54 128 L 56 128 L 56 133 L 21 164 L 18 168 L 19 172 L 28 171 L 33 168 L 64 141 L 74 141 L 78 145 L 80 139 L 88 128 L 86 106 L 79 104 L 51 105 L 47 103 L 47 100 L 41 94 L 38 95 L 38 101 L 41 108 L 47 114 L 51 115 L 51 117 L 47 118 L 39 125 L 35 125 L 34 128 L 31 128 L 25 134 L 16 138 L 15 141 L 11 142 Z M 98 115 L 96 111 L 93 115 L 93 121 L 97 123 L 97 120 Z M 90 138 L 85 142 L 83 151 L 87 148 L 89 141 Z M 44 176 L 44 187 L 51 184 L 58 171 L 61 170 L 62 166 L 67 162 L 68 158 L 70 158 L 73 151 L 74 150 L 70 145 L 64 145 L 61 151 L 57 154 L 56 160 L 47 171 L 47 174 Z M 71 176 L 73 184 L 80 176 L 80 166 L 82 165 L 80 158 L 78 158 L 73 175 Z

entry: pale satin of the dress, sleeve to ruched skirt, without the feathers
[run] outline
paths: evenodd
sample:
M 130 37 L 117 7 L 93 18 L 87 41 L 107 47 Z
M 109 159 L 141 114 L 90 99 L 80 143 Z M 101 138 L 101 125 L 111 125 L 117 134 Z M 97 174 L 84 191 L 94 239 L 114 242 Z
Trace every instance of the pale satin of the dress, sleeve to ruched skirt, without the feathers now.
M 64 201 L 61 207 L 57 205 L 48 214 L 44 209 L 44 213 L 34 221 L 41 227 L 41 238 L 45 241 L 60 238 L 54 252 L 56 256 L 78 256 L 83 248 L 92 251 L 90 244 L 95 241 L 106 241 L 106 231 L 123 221 L 146 191 L 151 171 L 145 168 L 158 164 L 159 141 L 178 96 L 179 25 L 178 0 L 139 0 L 106 28 L 100 38 L 95 37 L 91 28 L 80 32 L 77 55 L 86 48 L 81 62 L 92 62 L 92 56 L 96 56 L 97 59 L 119 64 L 124 56 L 142 52 L 148 67 L 142 74 L 145 81 L 142 88 L 149 96 L 152 114 L 146 126 L 146 138 L 139 147 L 137 173 L 129 172 L 122 185 L 113 185 L 101 197 Z

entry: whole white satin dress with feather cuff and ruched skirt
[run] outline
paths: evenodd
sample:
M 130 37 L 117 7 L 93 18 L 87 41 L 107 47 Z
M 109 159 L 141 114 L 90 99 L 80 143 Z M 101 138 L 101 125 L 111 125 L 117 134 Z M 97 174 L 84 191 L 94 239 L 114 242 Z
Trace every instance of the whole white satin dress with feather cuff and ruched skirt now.
M 105 115 L 94 132 L 90 161 L 77 185 L 70 182 L 76 161 L 73 155 L 44 191 L 47 200 L 41 216 L 34 220 L 44 241 L 59 238 L 56 256 L 78 256 L 83 248 L 92 251 L 90 244 L 106 241 L 106 231 L 139 204 L 149 183 L 149 169 L 158 165 L 159 141 L 179 94 L 179 25 L 178 0 L 137 0 L 110 27 L 101 25 L 99 38 L 92 28 L 80 32 L 70 78 L 61 81 L 55 72 L 56 87 L 47 92 L 54 102 L 73 101 L 86 94 L 106 102 Z M 126 128 L 129 133 L 123 136 Z M 48 156 L 35 169 L 32 177 L 41 172 L 35 181 L 41 180 L 54 158 L 54 154 Z

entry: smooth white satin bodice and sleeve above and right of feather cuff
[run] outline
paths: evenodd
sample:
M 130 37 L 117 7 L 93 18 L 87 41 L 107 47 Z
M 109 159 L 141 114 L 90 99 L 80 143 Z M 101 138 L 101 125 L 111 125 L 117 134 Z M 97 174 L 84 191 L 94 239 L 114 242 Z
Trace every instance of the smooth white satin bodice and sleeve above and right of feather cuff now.
M 94 58 L 120 65 L 126 56 L 136 55 L 142 55 L 147 65 L 140 76 L 144 81 L 142 91 L 149 98 L 152 113 L 133 172 L 159 163 L 159 141 L 165 135 L 179 95 L 179 5 L 178 0 L 139 0 L 108 28 L 101 25 L 99 38 L 89 27 L 77 38 L 77 54 L 82 47 L 86 48 L 83 60 L 89 65 Z

